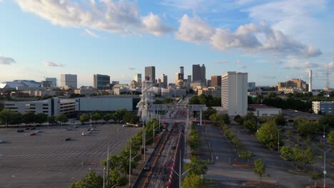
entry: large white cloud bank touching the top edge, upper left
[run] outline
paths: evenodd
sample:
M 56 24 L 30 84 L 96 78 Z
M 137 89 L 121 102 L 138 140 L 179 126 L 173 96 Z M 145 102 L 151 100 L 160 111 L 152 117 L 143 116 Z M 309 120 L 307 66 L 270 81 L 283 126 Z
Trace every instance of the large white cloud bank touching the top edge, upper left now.
M 34 1 L 15 0 L 23 11 L 40 16 L 54 25 L 90 28 L 111 33 L 152 33 L 161 35 L 171 28 L 157 15 L 141 18 L 136 3 L 127 0 Z M 86 31 L 87 32 L 87 31 Z

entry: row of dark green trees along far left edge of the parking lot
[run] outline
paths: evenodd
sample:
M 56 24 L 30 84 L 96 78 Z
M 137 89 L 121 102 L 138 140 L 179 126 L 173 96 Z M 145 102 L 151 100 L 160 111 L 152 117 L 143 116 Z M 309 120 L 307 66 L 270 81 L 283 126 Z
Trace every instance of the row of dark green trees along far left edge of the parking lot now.
M 20 125 L 21 123 L 31 125 L 34 123 L 41 124 L 44 122 L 49 122 L 51 124 L 54 124 L 57 122 L 63 123 L 63 122 L 68 122 L 68 121 L 69 121 L 68 117 L 64 114 L 48 117 L 48 115 L 44 113 L 21 114 L 21 113 L 13 112 L 8 109 L 3 109 L 0 112 L 0 125 L 5 125 L 6 127 L 8 125 Z

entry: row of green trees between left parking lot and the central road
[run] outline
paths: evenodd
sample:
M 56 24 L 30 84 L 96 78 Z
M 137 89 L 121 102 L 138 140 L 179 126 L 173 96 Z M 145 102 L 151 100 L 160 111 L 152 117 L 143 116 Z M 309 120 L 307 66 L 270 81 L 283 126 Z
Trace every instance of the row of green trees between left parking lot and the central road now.
M 151 119 L 147 122 L 144 127 L 146 135 L 152 135 L 151 138 L 146 140 L 146 145 L 151 145 L 154 138 L 159 133 L 159 131 L 154 132 L 153 127 L 158 127 L 158 120 Z M 119 186 L 125 186 L 128 183 L 127 175 L 130 169 L 129 155 L 131 151 L 131 156 L 134 157 L 131 161 L 131 171 L 138 166 L 138 161 L 141 160 L 141 145 L 143 145 L 143 130 L 136 133 L 135 136 L 126 143 L 124 150 L 121 150 L 119 155 L 110 155 L 108 162 L 103 160 L 101 162 L 105 169 L 109 169 L 109 173 L 106 174 L 106 179 L 108 181 L 108 186 L 113 187 L 113 185 L 118 184 Z M 131 157 L 131 158 L 132 158 Z M 108 167 L 107 167 L 108 164 Z M 71 184 L 70 188 L 79 187 L 91 187 L 100 188 L 103 187 L 103 177 L 97 175 L 95 172 L 90 172 L 83 179 L 79 179 L 78 182 Z

